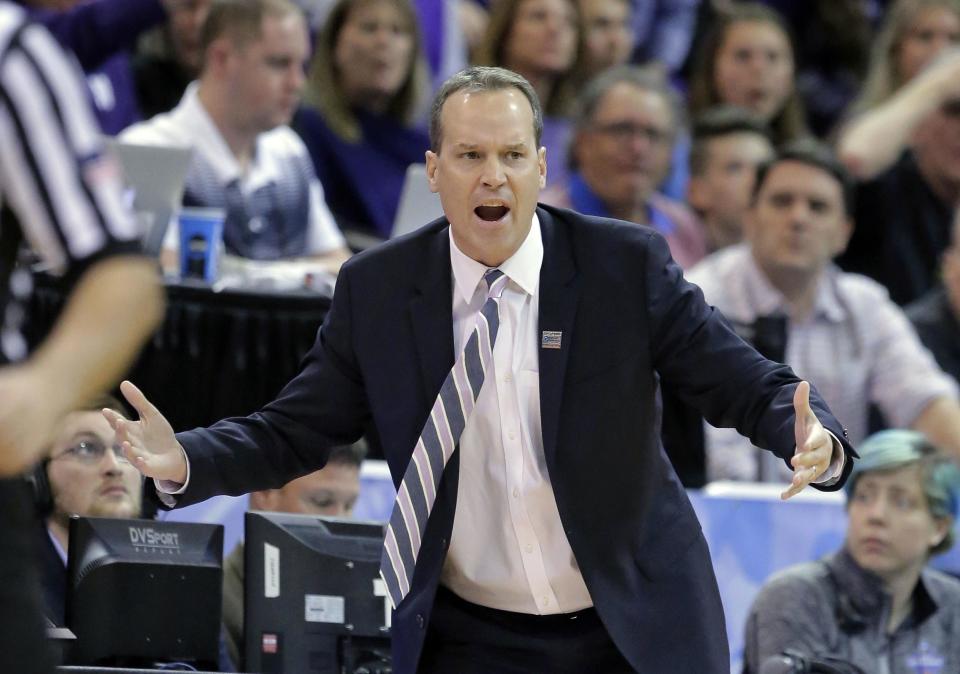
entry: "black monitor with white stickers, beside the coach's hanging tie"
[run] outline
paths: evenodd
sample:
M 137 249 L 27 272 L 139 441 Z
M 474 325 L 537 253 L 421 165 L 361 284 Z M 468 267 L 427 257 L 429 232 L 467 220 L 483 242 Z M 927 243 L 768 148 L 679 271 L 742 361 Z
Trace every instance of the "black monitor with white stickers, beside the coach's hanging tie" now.
M 244 671 L 389 672 L 383 536 L 381 523 L 248 512 Z

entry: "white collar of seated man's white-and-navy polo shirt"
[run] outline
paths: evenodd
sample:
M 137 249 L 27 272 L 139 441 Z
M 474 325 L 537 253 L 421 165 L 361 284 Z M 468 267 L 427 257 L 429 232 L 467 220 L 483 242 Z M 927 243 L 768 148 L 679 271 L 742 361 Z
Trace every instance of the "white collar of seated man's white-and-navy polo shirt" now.
M 264 134 L 254 141 L 250 167 L 247 174 L 243 175 L 236 156 L 200 101 L 199 92 L 200 83 L 191 82 L 177 106 L 178 122 L 190 130 L 194 148 L 216 173 L 218 182 L 226 185 L 239 180 L 245 190 L 254 190 L 274 182 L 280 175 L 280 167 L 269 152 L 260 151 Z

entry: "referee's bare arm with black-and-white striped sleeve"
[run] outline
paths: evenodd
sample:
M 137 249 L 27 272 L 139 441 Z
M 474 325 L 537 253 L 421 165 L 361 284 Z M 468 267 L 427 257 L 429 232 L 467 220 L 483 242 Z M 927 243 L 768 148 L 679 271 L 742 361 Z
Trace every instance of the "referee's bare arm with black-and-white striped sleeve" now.
M 63 414 L 124 374 L 163 306 L 156 264 L 137 252 L 119 170 L 103 152 L 79 72 L 39 26 L 8 22 L 4 33 L 5 11 L 0 201 L 74 290 L 37 351 L 0 369 L 0 475 L 39 458 Z

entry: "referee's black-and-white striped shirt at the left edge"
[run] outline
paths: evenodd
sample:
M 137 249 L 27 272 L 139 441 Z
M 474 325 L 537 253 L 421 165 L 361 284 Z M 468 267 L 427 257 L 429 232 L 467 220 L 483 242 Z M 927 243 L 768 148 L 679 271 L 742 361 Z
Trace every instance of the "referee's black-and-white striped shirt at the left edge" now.
M 135 251 L 139 232 L 121 193 L 75 62 L 0 0 L 0 362 L 26 356 L 31 283 L 17 268 L 21 243 L 70 278 L 107 253 Z

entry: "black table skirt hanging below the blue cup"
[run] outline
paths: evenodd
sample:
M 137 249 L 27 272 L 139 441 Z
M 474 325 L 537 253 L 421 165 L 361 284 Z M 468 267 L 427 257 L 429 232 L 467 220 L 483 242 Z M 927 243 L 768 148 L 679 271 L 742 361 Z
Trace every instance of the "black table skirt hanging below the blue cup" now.
M 213 292 L 180 283 L 168 283 L 166 291 L 163 324 L 128 378 L 178 431 L 246 415 L 272 400 L 299 371 L 330 308 L 329 297 L 312 292 Z M 26 329 L 31 348 L 63 302 L 55 279 L 35 276 Z

